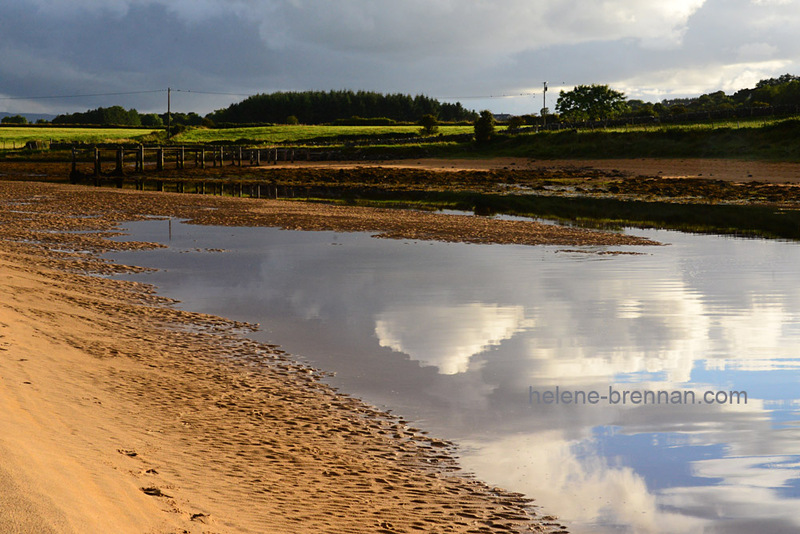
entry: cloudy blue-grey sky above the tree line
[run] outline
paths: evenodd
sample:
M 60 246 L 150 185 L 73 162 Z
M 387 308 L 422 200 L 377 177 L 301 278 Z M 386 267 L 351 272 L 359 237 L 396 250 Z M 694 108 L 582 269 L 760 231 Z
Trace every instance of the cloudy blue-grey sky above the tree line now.
M 167 88 L 201 115 L 340 89 L 511 114 L 579 84 L 659 102 L 800 74 L 798 25 L 800 0 L 15 0 L 0 112 L 160 113 Z

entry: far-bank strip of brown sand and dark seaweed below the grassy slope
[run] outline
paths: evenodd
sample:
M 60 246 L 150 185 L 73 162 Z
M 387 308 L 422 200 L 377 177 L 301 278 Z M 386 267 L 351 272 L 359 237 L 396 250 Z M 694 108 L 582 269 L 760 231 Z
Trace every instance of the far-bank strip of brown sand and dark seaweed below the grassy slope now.
M 132 165 L 132 163 L 131 163 Z M 79 170 L 92 173 L 91 165 Z M 385 191 L 473 191 L 582 195 L 687 203 L 769 204 L 800 207 L 800 163 L 735 159 L 533 160 L 527 158 L 408 159 L 391 161 L 278 162 L 260 167 L 149 171 L 159 179 L 225 178 L 315 188 Z M 109 171 L 111 169 L 108 169 Z M 0 179 L 66 181 L 64 162 L 4 161 Z M 127 171 L 133 172 L 132 167 Z

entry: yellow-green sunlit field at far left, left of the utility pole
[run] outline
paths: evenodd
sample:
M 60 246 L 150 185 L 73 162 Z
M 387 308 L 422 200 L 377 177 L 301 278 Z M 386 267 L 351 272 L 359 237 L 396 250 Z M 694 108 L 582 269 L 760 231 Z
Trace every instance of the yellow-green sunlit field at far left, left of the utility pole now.
M 33 126 L 4 126 L 0 128 L 0 148 L 25 146 L 28 141 L 117 143 L 136 141 L 154 130 L 141 128 L 48 128 Z

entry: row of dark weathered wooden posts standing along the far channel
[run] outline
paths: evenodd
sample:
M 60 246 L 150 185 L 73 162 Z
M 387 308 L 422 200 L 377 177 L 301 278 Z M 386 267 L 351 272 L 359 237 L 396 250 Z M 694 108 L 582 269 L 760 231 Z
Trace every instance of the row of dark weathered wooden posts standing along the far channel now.
M 72 171 L 77 171 L 79 161 L 86 161 L 86 150 L 77 148 L 72 149 Z M 135 148 L 101 148 L 94 147 L 89 149 L 89 157 L 94 161 L 94 174 L 103 173 L 103 163 L 112 161 L 114 163 L 114 174 L 124 174 L 127 162 L 133 160 L 133 171 L 136 173 L 145 172 L 145 164 L 151 163 L 157 171 L 162 171 L 168 165 L 173 164 L 175 169 L 185 169 L 187 163 L 195 168 L 223 167 L 225 165 L 243 166 L 263 165 L 265 163 L 277 163 L 278 161 L 294 162 L 295 158 L 310 160 L 312 154 L 308 149 L 294 148 L 246 148 L 242 146 L 212 146 L 212 147 L 146 147 L 139 145 Z M 109 155 L 113 153 L 113 156 Z

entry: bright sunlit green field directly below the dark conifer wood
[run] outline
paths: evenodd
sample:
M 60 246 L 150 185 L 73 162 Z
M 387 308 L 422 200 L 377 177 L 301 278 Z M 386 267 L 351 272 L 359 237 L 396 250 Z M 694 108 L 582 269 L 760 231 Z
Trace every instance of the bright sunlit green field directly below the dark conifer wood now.
M 248 128 L 196 128 L 173 138 L 178 143 L 236 142 L 247 140 L 258 143 L 299 143 L 312 139 L 391 137 L 393 134 L 418 134 L 419 126 L 327 126 L 327 125 L 277 125 Z M 472 133 L 472 126 L 439 126 L 442 135 Z

